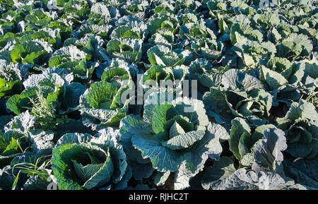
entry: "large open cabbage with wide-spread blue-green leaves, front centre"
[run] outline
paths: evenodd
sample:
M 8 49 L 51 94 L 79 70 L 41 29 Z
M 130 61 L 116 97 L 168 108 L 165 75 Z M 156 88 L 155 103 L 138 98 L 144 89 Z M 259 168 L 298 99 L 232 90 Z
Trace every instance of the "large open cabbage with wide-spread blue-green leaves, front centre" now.
M 201 101 L 184 97 L 158 103 L 159 97 L 158 93 L 148 97 L 142 119 L 132 115 L 122 119 L 125 149 L 132 145 L 140 150 L 143 159 L 149 158 L 159 172 L 181 171 L 194 176 L 208 157 L 219 159 L 220 140 L 228 140 L 228 133 L 208 121 Z

